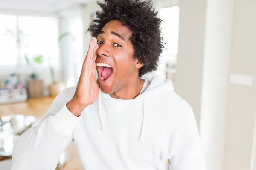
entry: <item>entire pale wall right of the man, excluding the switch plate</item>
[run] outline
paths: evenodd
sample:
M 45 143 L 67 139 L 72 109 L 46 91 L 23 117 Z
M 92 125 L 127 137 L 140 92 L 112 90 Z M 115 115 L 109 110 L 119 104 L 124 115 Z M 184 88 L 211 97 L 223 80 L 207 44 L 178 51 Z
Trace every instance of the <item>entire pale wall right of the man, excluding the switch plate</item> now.
M 176 91 L 200 120 L 207 170 L 256 170 L 255 17 L 255 0 L 180 0 Z

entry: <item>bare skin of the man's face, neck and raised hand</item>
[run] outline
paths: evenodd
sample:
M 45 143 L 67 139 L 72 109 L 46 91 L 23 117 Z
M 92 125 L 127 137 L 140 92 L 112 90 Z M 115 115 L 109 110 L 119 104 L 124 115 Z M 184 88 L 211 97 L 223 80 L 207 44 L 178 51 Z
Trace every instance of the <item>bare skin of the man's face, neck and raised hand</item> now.
M 76 92 L 66 104 L 75 116 L 96 101 L 99 88 L 117 99 L 134 99 L 139 95 L 145 82 L 139 77 L 143 63 L 133 58 L 133 45 L 129 40 L 131 34 L 132 31 L 122 22 L 112 20 L 102 28 L 97 39 L 90 41 Z M 95 81 L 96 63 L 110 65 L 113 68 L 111 77 L 105 81 Z M 97 70 L 99 74 L 99 68 Z

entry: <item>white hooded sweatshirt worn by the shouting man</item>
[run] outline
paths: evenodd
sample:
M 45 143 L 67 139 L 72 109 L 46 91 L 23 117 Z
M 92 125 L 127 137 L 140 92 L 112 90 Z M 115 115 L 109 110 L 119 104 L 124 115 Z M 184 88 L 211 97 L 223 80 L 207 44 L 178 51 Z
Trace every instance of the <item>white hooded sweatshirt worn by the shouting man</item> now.
M 205 170 L 192 108 L 171 81 L 147 74 L 135 99 L 99 97 L 76 117 L 66 107 L 76 87 L 59 94 L 40 125 L 17 140 L 12 170 L 54 170 L 74 141 L 84 170 Z

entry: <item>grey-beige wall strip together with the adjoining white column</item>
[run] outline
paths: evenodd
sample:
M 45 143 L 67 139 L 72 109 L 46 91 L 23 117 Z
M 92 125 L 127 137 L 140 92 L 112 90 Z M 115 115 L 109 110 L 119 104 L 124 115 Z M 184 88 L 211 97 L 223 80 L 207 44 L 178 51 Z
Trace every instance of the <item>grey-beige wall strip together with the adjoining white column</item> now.
M 180 0 L 176 92 L 193 108 L 207 170 L 222 170 L 233 0 Z

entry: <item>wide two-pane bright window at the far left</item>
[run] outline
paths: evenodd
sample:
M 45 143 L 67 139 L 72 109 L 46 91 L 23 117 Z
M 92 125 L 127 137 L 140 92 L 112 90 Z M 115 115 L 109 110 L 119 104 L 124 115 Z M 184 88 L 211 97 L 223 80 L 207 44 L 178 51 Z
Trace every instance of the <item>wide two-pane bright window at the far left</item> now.
M 0 14 L 0 23 L 0 65 L 27 68 L 25 55 L 41 54 L 40 67 L 59 66 L 57 18 Z

